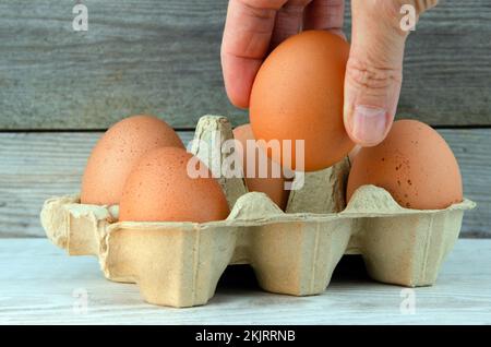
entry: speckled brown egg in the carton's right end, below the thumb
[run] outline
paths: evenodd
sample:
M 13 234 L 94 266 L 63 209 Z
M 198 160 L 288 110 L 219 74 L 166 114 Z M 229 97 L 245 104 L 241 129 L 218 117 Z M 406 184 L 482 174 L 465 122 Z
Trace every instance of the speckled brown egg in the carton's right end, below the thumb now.
M 349 174 L 347 199 L 363 184 L 387 190 L 403 207 L 441 210 L 462 202 L 457 160 L 440 134 L 416 120 L 399 120 L 378 146 L 361 148 Z

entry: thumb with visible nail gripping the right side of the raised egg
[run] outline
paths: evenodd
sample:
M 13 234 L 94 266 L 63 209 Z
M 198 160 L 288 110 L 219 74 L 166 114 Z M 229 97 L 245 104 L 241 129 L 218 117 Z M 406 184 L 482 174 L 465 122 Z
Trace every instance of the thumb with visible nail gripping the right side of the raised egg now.
M 399 26 L 398 1 L 351 1 L 351 49 L 345 76 L 345 128 L 361 146 L 387 135 L 403 81 L 408 32 Z

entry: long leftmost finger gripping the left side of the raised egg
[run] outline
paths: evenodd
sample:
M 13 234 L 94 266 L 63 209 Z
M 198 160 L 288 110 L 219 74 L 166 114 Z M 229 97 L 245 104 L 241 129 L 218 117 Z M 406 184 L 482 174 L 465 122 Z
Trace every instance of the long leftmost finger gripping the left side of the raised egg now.
M 221 41 L 228 98 L 247 108 L 255 74 L 266 56 L 277 9 L 286 0 L 230 0 Z

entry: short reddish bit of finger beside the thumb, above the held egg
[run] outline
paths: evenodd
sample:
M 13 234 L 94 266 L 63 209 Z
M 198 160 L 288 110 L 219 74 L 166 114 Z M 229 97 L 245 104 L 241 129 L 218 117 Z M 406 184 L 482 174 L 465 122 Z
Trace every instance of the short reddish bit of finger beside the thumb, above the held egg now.
M 343 37 L 345 0 L 313 0 L 304 11 L 304 29 L 331 31 Z

